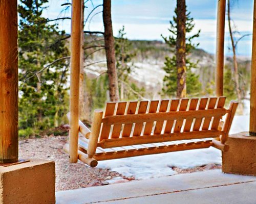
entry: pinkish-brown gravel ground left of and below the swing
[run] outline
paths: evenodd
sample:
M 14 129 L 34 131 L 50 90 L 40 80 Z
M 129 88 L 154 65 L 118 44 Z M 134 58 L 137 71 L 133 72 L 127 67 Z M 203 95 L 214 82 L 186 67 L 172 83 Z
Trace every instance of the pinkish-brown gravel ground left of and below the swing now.
M 108 185 L 107 180 L 116 177 L 115 183 L 123 183 L 134 180 L 133 177 L 125 177 L 118 172 L 109 169 L 91 168 L 80 161 L 69 163 L 68 154 L 62 150 L 67 136 L 50 136 L 46 138 L 24 139 L 19 141 L 19 159 L 45 159 L 55 162 L 56 191 L 86 188 L 92 186 Z M 219 169 L 220 165 L 208 164 L 190 169 L 180 169 L 170 166 L 177 172 L 190 173 Z M 112 182 L 113 183 L 113 182 Z

